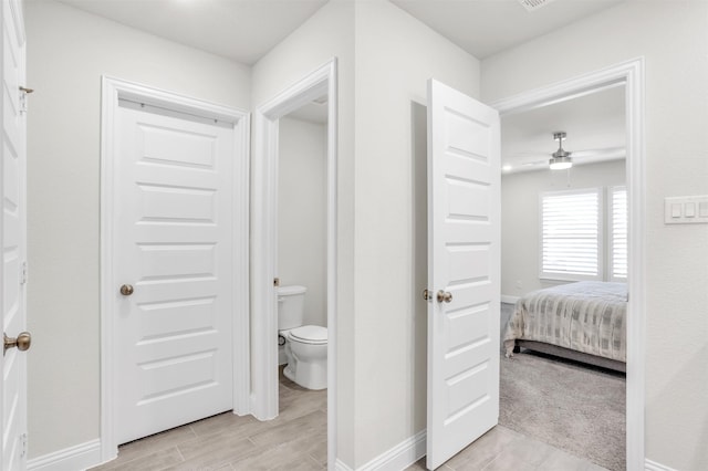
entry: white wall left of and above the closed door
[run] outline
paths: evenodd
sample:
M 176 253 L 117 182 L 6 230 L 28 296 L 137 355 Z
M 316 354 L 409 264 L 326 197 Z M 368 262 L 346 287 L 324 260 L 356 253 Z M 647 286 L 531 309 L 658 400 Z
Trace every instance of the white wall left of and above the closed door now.
M 100 436 L 101 75 L 248 109 L 250 70 L 51 0 L 25 21 L 34 458 Z

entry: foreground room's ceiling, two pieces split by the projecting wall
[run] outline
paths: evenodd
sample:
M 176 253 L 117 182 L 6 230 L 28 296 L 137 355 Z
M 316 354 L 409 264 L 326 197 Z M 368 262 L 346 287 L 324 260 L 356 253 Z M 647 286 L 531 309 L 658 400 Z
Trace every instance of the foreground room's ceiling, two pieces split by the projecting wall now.
M 247 65 L 256 63 L 327 2 L 327 0 L 60 1 Z M 477 59 L 485 59 L 625 0 L 545 0 L 542 7 L 531 12 L 527 11 L 519 0 L 391 1 Z M 543 2 L 543 0 L 533 1 Z

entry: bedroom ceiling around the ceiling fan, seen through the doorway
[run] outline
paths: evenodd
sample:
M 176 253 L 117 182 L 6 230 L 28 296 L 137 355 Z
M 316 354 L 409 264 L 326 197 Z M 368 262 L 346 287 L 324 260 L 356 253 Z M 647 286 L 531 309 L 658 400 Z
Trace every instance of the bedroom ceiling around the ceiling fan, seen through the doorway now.
M 565 132 L 563 148 L 573 165 L 625 157 L 624 86 L 503 116 L 501 165 L 504 172 L 548 169 L 558 149 L 553 133 Z

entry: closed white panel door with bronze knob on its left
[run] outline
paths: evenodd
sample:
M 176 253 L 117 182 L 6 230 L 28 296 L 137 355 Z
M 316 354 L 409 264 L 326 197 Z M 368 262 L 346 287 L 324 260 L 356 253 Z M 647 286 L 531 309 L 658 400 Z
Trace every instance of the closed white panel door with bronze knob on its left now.
M 117 443 L 232 408 L 233 128 L 195 119 L 116 116 Z

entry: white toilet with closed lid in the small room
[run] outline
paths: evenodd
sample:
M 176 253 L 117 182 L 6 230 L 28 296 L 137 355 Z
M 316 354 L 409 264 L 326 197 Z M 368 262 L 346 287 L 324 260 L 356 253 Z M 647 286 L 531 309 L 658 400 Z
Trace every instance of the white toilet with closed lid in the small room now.
M 304 286 L 278 289 L 279 343 L 284 342 L 288 365 L 285 377 L 306 389 L 327 387 L 327 329 L 319 325 L 302 325 Z

